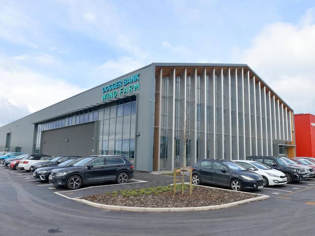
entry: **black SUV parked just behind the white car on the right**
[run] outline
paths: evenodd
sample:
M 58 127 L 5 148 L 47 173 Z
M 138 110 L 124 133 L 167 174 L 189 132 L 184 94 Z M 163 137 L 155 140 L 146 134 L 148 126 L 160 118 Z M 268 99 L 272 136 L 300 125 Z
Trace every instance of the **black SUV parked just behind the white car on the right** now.
M 307 179 L 307 172 L 305 169 L 297 167 L 297 166 L 291 166 L 281 157 L 249 156 L 246 159 L 252 160 L 252 161 L 258 161 L 273 169 L 282 171 L 286 177 L 287 183 Z

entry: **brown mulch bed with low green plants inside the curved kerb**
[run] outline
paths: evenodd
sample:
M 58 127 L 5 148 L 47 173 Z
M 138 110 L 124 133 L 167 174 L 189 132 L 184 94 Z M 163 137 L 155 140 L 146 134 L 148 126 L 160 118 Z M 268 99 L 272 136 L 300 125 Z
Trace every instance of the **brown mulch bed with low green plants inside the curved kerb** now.
M 113 196 L 112 193 L 88 195 L 83 199 L 105 205 L 125 207 L 205 207 L 237 202 L 258 197 L 256 194 L 245 192 L 226 191 L 224 189 L 196 186 L 189 195 L 189 189 L 177 192 L 173 191 L 158 194 L 143 194 L 141 196 L 122 196 L 120 193 Z

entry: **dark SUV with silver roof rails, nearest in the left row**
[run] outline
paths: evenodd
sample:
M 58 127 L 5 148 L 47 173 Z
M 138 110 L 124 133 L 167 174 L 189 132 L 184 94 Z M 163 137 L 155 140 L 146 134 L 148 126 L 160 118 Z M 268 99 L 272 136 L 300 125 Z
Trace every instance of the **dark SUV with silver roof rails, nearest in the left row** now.
M 56 169 L 48 177 L 49 183 L 78 189 L 82 184 L 117 181 L 126 183 L 133 178 L 133 165 L 123 156 L 89 156 L 72 167 Z

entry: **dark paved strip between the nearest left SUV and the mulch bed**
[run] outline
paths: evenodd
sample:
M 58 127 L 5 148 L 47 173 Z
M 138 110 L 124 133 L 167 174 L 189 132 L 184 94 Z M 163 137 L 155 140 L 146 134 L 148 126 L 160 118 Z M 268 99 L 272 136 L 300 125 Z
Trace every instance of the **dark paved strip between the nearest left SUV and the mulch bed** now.
M 137 181 L 137 180 L 141 180 Z M 145 181 L 145 182 L 143 182 Z M 185 181 L 189 181 L 189 177 L 185 177 Z M 136 189 L 145 187 L 156 187 L 159 185 L 168 185 L 173 183 L 173 177 L 152 174 L 148 172 L 135 171 L 133 179 L 126 184 L 106 183 L 101 186 L 98 185 L 84 185 L 78 190 L 67 190 L 60 188 L 58 192 L 70 198 L 84 197 L 87 195 L 94 195 L 99 193 L 113 192 L 125 189 Z

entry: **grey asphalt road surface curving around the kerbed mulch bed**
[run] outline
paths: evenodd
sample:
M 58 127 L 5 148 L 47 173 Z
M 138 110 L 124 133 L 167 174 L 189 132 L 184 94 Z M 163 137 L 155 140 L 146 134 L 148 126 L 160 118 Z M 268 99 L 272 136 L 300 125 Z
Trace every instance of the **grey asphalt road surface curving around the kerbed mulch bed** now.
M 135 173 L 134 178 L 137 180 L 123 186 L 92 185 L 69 191 L 34 181 L 31 173 L 0 166 L 0 236 L 315 235 L 315 178 L 255 191 L 271 196 L 265 201 L 184 213 L 108 211 L 55 194 L 63 192 L 71 197 L 79 192 L 84 195 L 118 186 L 129 188 L 172 181 L 172 177 L 150 173 Z

